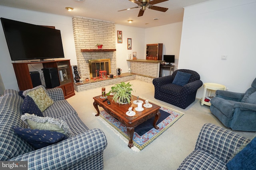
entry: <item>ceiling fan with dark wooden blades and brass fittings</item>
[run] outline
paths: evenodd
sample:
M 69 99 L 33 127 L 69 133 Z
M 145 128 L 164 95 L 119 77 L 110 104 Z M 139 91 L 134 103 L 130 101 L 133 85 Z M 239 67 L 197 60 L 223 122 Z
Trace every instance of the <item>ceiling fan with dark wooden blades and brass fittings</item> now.
M 161 12 L 166 12 L 168 10 L 168 8 L 163 8 L 163 7 L 159 7 L 159 6 L 153 6 L 154 4 L 158 4 L 158 3 L 161 3 L 161 2 L 164 2 L 164 1 L 168 1 L 168 0 L 151 0 L 151 1 L 150 0 L 138 0 L 138 1 L 137 0 L 129 0 L 129 1 L 137 4 L 138 6 L 133 7 L 133 8 L 128 8 L 128 9 L 125 9 L 125 10 L 130 10 L 130 9 L 142 7 L 140 9 L 138 17 L 143 16 L 144 11 L 146 10 L 146 7 L 148 9 L 157 10 L 157 11 L 161 11 Z M 119 10 L 119 11 L 124 11 L 124 10 Z

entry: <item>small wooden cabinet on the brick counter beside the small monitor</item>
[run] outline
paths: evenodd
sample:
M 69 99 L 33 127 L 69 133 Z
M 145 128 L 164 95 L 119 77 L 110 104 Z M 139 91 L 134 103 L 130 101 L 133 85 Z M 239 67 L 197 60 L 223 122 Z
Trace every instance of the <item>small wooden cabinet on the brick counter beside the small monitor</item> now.
M 147 60 L 162 60 L 163 44 L 147 44 L 146 59 Z

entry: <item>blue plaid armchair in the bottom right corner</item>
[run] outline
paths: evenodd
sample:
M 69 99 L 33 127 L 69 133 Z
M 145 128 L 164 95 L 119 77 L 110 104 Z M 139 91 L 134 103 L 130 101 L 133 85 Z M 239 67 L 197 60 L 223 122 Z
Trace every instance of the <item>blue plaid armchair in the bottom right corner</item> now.
M 227 170 L 232 154 L 250 139 L 206 123 L 196 141 L 195 150 L 180 164 L 178 170 Z

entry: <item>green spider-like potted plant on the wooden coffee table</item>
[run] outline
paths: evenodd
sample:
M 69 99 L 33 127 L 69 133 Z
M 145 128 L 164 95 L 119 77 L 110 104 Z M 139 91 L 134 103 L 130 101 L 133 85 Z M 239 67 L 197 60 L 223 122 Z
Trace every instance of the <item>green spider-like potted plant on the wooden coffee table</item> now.
M 115 86 L 111 87 L 111 90 L 106 94 L 110 95 L 113 94 L 113 99 L 116 103 L 119 104 L 130 104 L 132 99 L 131 92 L 133 91 L 131 88 L 132 84 L 128 82 L 125 84 L 125 82 L 120 82 L 119 84 L 116 84 Z

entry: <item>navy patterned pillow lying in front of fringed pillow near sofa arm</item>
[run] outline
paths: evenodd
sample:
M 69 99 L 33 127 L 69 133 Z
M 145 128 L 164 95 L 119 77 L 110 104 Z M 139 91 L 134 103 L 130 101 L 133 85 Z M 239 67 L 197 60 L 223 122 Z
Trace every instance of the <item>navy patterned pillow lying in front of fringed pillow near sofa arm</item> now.
M 13 127 L 14 131 L 25 141 L 30 143 L 35 149 L 47 147 L 59 141 L 68 139 L 66 135 L 59 132 L 52 132 L 38 129 L 25 129 Z

